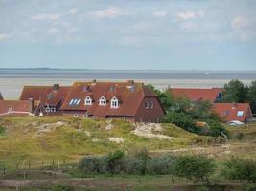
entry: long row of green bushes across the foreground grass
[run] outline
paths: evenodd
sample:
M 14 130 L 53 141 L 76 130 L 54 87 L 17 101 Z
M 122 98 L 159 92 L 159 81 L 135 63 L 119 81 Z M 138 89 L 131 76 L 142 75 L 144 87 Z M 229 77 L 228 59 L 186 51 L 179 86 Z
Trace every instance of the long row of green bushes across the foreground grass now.
M 115 151 L 105 156 L 87 156 L 80 160 L 84 175 L 171 175 L 194 183 L 210 186 L 213 177 L 223 180 L 242 180 L 256 189 L 256 162 L 232 158 L 221 163 L 205 156 L 158 154 L 151 156 L 146 149 L 132 154 Z M 174 181 L 171 179 L 170 181 Z M 254 184 L 253 184 L 254 183 Z

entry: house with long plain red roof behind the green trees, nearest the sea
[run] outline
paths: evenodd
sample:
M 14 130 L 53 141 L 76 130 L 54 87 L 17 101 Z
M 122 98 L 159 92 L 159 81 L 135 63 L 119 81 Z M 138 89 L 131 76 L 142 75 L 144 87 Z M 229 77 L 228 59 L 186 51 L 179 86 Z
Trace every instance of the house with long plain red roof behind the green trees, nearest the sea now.
M 169 89 L 172 96 L 188 98 L 192 101 L 198 102 L 200 100 L 208 100 L 212 103 L 217 102 L 222 97 L 221 88 L 211 88 L 211 89 L 191 89 L 191 88 L 170 88 Z

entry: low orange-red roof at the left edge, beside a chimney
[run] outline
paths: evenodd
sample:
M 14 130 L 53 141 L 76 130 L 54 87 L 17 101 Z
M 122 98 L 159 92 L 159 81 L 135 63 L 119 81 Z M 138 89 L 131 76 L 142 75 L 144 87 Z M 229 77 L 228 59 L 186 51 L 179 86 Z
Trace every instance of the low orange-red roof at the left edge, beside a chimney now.
M 31 100 L 0 100 L 0 116 L 32 113 Z

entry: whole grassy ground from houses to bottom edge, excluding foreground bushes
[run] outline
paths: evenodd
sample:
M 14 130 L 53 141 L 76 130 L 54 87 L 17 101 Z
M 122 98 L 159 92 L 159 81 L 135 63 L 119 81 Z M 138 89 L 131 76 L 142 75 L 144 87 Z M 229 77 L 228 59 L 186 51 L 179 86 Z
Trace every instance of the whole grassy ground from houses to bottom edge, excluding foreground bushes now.
M 144 125 L 148 128 L 149 125 Z M 230 139 L 188 133 L 173 124 L 159 124 L 146 135 L 133 133 L 136 125 L 122 120 L 74 117 L 1 117 L 0 190 L 51 190 L 46 185 L 66 184 L 76 190 L 196 190 L 192 182 L 171 176 L 80 175 L 77 162 L 85 155 L 103 155 L 121 149 L 126 153 L 147 148 L 151 155 L 204 154 L 218 165 L 231 156 L 256 159 L 256 124 L 227 127 Z M 155 136 L 155 137 L 154 137 Z M 112 138 L 112 139 L 111 139 Z M 243 190 L 237 181 L 219 180 L 221 185 Z M 174 182 L 172 181 L 174 180 Z M 36 189 L 32 189 L 36 187 Z M 58 187 L 58 186 L 57 186 Z

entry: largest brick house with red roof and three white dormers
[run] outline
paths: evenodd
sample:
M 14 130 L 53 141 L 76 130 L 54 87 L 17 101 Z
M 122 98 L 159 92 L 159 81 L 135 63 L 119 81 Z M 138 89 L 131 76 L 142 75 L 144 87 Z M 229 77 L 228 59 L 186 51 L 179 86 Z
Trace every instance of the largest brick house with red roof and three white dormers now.
M 135 122 L 158 122 L 164 116 L 158 97 L 143 83 L 76 82 L 66 96 L 64 115 L 122 118 Z

